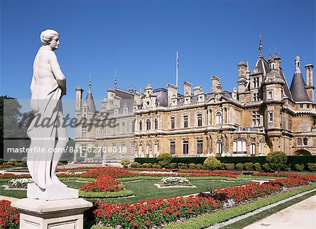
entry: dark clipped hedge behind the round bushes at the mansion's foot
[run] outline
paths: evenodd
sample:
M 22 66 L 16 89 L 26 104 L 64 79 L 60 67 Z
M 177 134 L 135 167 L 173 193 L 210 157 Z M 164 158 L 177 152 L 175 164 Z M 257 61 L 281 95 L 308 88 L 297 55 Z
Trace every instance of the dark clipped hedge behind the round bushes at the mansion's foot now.
M 195 163 L 195 164 L 203 164 L 204 160 L 207 157 L 173 157 L 172 162 L 173 163 Z M 259 163 L 261 166 L 265 163 L 267 163 L 267 160 L 265 159 L 265 156 L 258 156 L 258 157 L 216 157 L 218 160 L 220 160 L 221 163 L 225 164 L 238 164 L 238 163 Z M 147 157 L 137 157 L 135 158 L 135 162 L 138 162 L 140 164 L 143 163 L 158 163 L 156 158 L 147 158 Z M 295 169 L 296 164 L 308 164 L 308 163 L 316 163 L 316 155 L 311 156 L 287 156 L 287 164 L 291 166 L 291 169 Z

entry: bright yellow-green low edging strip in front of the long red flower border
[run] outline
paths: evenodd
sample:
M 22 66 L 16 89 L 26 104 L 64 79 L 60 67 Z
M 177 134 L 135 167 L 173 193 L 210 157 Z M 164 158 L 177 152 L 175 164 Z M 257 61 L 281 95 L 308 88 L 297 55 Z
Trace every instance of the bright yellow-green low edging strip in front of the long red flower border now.
M 305 186 L 297 190 L 292 190 L 289 192 L 284 192 L 281 194 L 273 195 L 265 199 L 258 199 L 249 204 L 238 205 L 237 207 L 232 207 L 229 209 L 223 209 L 220 211 L 213 212 L 211 214 L 206 214 L 204 216 L 198 216 L 196 218 L 191 218 L 183 223 L 172 223 L 167 225 L 167 229 L 200 229 L 206 228 L 210 225 L 216 223 L 221 223 L 228 221 L 230 218 L 235 218 L 236 216 L 241 216 L 243 214 L 249 213 L 261 207 L 265 207 L 269 204 L 279 202 L 282 199 L 287 199 L 288 197 L 294 196 L 298 193 L 305 192 L 316 188 L 316 184 Z

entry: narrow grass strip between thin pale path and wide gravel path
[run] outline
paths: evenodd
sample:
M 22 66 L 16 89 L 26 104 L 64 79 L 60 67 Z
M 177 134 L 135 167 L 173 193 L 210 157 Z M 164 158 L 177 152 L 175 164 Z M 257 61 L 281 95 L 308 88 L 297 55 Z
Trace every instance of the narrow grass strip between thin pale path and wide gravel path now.
M 312 197 L 316 195 L 316 191 L 307 193 L 301 197 L 297 197 L 295 199 L 291 199 L 288 202 L 285 202 L 283 204 L 279 204 L 276 207 L 272 207 L 270 209 L 267 209 L 265 211 L 261 211 L 260 213 L 254 215 L 254 216 L 249 216 L 248 218 L 244 218 L 240 221 L 237 221 L 235 223 L 232 223 L 230 225 L 226 225 L 222 227 L 221 229 L 242 229 L 246 227 L 246 225 L 251 225 L 251 223 L 255 223 L 256 221 L 260 221 L 263 218 L 266 218 L 268 216 L 271 216 L 272 214 L 277 213 L 277 211 L 281 211 L 283 209 L 286 209 L 287 207 L 297 204 L 298 202 L 303 201 L 304 199 L 308 199 L 309 197 Z

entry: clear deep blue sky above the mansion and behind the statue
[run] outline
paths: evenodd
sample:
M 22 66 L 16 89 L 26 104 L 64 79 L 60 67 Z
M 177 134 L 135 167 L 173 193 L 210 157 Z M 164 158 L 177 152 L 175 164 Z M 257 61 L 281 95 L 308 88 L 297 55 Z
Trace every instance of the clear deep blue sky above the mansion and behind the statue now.
M 46 29 L 60 33 L 56 51 L 67 77 L 67 96 L 78 85 L 103 98 L 113 86 L 154 88 L 176 83 L 179 51 L 183 81 L 211 91 L 237 86 L 237 63 L 253 70 L 262 33 L 263 54 L 281 55 L 291 84 L 294 58 L 315 65 L 315 1 L 3 1 L 1 0 L 1 95 L 30 98 L 34 56 Z M 302 71 L 304 72 L 304 71 Z M 304 73 L 305 75 L 305 73 Z

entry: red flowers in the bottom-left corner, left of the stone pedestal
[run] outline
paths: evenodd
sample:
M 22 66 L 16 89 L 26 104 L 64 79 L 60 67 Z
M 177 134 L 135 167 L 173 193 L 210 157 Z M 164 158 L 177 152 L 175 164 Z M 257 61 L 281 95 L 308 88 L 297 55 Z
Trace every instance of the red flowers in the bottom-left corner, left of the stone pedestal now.
M 20 214 L 8 200 L 0 200 L 0 228 L 19 228 Z

